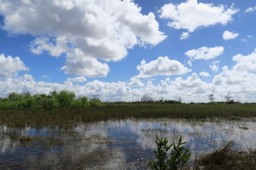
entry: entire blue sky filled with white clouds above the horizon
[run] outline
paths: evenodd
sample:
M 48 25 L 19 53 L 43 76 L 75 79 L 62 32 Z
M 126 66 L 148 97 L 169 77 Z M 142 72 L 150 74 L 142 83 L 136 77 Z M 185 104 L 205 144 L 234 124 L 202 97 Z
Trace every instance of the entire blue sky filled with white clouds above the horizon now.
M 256 1 L 0 0 L 0 97 L 256 102 Z

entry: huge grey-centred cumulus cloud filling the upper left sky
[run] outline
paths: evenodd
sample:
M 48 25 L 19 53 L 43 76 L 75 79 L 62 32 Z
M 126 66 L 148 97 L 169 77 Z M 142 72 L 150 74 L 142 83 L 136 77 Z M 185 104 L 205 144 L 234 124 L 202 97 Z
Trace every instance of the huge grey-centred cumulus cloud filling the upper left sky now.
M 143 15 L 141 8 L 130 0 L 0 3 L 3 29 L 11 34 L 36 36 L 30 44 L 35 54 L 47 51 L 54 57 L 67 55 L 62 67 L 67 74 L 106 76 L 108 66 L 98 60 L 121 60 L 135 45 L 157 45 L 166 38 L 159 31 L 154 14 Z M 74 50 L 79 50 L 79 56 Z M 88 61 L 93 66 L 88 67 Z M 92 73 L 86 73 L 89 70 Z

